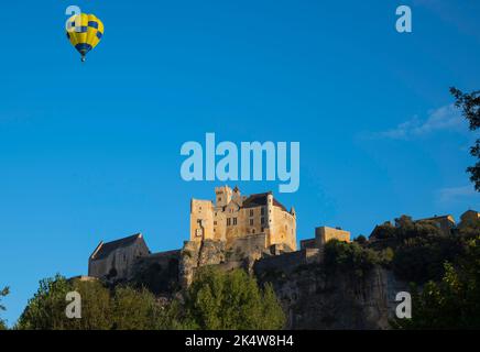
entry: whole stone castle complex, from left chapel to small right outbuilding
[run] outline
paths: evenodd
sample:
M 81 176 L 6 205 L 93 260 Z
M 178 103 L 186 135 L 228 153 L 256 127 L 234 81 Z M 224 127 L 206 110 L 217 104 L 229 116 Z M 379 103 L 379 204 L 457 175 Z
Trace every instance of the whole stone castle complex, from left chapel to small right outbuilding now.
M 348 231 L 320 227 L 297 251 L 295 209 L 288 211 L 271 191 L 242 196 L 238 187 L 216 187 L 215 201 L 192 199 L 189 220 L 189 241 L 182 250 L 152 253 L 141 233 L 100 242 L 89 257 L 88 276 L 118 283 L 148 273 L 162 290 L 172 280 L 188 285 L 204 265 L 249 271 L 255 264 L 299 265 L 318 261 L 328 240 L 350 241 Z

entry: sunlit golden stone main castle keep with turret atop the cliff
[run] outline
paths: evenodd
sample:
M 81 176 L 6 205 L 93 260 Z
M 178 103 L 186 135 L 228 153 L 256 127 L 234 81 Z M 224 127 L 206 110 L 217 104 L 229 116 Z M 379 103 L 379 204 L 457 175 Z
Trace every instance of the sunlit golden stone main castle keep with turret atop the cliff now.
M 271 191 L 242 196 L 238 187 L 223 186 L 215 195 L 215 202 L 192 199 L 190 241 L 221 241 L 229 249 L 248 238 L 263 249 L 296 250 L 295 210 L 286 210 Z

